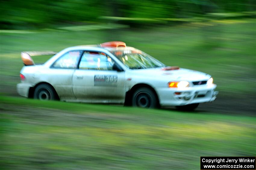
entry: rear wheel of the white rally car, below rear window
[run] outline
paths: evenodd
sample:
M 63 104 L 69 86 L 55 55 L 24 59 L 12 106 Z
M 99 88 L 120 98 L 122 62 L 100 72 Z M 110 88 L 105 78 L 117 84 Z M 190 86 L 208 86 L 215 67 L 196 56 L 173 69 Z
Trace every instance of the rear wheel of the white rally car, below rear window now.
M 34 92 L 34 99 L 39 100 L 58 100 L 58 95 L 56 94 L 54 88 L 48 84 L 38 85 Z

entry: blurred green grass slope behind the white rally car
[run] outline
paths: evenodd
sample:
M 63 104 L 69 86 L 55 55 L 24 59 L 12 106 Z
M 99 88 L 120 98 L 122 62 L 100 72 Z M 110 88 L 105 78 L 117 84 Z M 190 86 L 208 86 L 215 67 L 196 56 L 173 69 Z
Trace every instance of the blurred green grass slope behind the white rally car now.
M 20 51 L 60 51 L 74 45 L 113 40 L 124 41 L 167 65 L 211 74 L 222 94 L 251 94 L 255 89 L 254 19 L 152 26 L 148 29 L 1 33 L 1 84 L 15 88 L 19 82 L 19 71 L 23 66 Z M 34 59 L 43 62 L 48 58 Z M 15 81 L 9 80 L 7 75 L 16 76 Z

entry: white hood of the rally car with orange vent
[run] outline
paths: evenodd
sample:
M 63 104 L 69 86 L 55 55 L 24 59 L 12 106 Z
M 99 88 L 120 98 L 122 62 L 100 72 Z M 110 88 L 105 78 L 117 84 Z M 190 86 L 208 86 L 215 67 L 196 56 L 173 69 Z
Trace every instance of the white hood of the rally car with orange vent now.
M 195 71 L 195 70 L 189 70 L 180 68 L 178 70 L 163 70 L 163 68 L 150 68 L 150 69 L 137 69 L 132 70 L 133 73 L 140 76 L 150 76 L 154 79 L 170 79 L 173 81 L 202 81 L 202 80 L 208 80 L 211 78 L 211 75 Z

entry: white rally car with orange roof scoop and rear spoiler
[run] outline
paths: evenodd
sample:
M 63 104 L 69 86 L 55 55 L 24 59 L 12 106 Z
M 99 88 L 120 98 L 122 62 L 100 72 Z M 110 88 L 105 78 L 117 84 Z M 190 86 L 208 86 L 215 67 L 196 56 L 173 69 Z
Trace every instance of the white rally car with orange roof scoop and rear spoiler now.
M 21 53 L 21 96 L 193 110 L 199 103 L 214 101 L 218 93 L 209 74 L 166 66 L 124 42 L 66 48 L 43 64 L 34 64 L 31 58 L 50 54 L 55 53 Z

